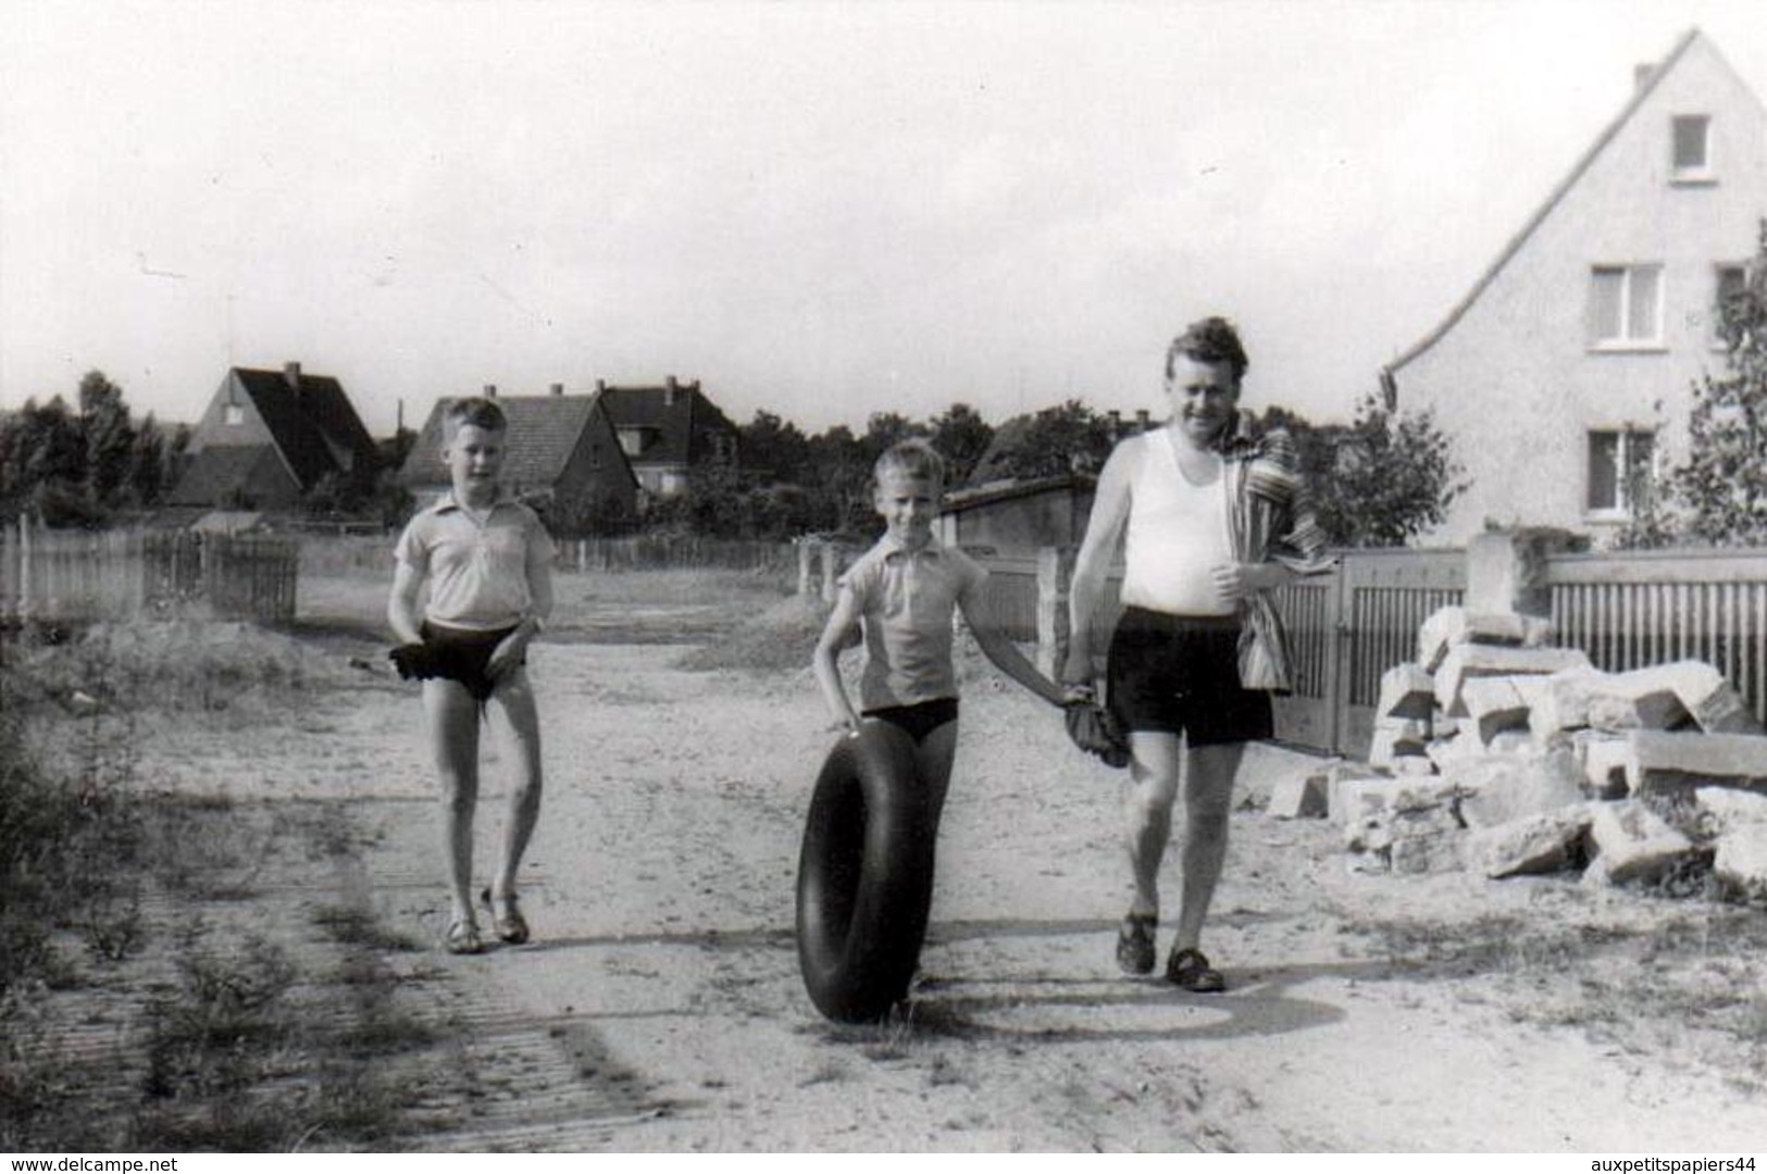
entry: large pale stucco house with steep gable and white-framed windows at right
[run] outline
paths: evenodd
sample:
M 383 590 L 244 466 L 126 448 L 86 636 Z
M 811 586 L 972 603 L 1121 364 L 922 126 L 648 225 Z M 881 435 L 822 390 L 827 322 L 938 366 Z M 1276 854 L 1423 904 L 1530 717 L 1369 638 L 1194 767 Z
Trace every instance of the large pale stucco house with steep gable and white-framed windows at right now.
M 1472 487 L 1428 535 L 1486 523 L 1601 538 L 1686 454 L 1723 371 L 1716 305 L 1767 214 L 1767 111 L 1698 30 L 1634 90 L 1447 318 L 1382 371 L 1430 408 Z

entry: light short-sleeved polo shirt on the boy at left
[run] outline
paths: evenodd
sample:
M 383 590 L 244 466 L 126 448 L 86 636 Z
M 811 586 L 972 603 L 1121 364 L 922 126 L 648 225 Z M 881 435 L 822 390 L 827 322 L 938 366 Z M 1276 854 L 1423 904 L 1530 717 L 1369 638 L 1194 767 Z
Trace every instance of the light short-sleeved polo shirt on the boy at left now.
M 489 632 L 534 614 L 528 558 L 551 560 L 553 542 L 539 514 L 500 498 L 484 523 L 454 494 L 410 521 L 394 558 L 428 576 L 424 618 L 451 628 Z

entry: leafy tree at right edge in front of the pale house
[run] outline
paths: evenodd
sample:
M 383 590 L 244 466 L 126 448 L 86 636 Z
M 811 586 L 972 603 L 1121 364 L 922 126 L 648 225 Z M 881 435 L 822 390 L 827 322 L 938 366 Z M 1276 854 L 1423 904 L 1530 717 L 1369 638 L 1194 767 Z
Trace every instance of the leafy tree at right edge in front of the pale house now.
M 1726 374 L 1695 383 L 1687 461 L 1620 546 L 1767 546 L 1767 219 L 1742 286 L 1716 309 Z

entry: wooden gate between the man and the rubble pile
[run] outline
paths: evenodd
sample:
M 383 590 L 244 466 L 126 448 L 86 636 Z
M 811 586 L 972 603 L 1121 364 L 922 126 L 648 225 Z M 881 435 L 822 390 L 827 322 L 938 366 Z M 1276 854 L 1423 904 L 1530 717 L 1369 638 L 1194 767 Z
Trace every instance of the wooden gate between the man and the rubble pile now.
M 1295 692 L 1276 701 L 1276 736 L 1366 756 L 1380 676 L 1417 657 L 1417 625 L 1467 590 L 1461 551 L 1341 551 L 1338 570 L 1279 593 Z

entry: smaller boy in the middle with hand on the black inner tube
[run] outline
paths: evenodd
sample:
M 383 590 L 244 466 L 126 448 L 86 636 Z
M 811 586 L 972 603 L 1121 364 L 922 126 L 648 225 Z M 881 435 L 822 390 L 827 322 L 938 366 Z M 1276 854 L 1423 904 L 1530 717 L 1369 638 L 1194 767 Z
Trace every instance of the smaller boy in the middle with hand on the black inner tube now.
M 1043 676 L 988 613 L 988 577 L 963 551 L 933 537 L 945 463 L 919 440 L 892 445 L 873 466 L 873 505 L 885 533 L 839 579 L 839 595 L 816 643 L 816 685 L 839 729 L 889 722 L 915 747 L 915 763 L 933 828 L 951 786 L 958 749 L 958 680 L 951 662 L 951 620 L 963 613 L 982 653 L 1002 673 L 1051 704 L 1062 690 Z M 846 696 L 839 653 L 864 641 L 859 710 Z

